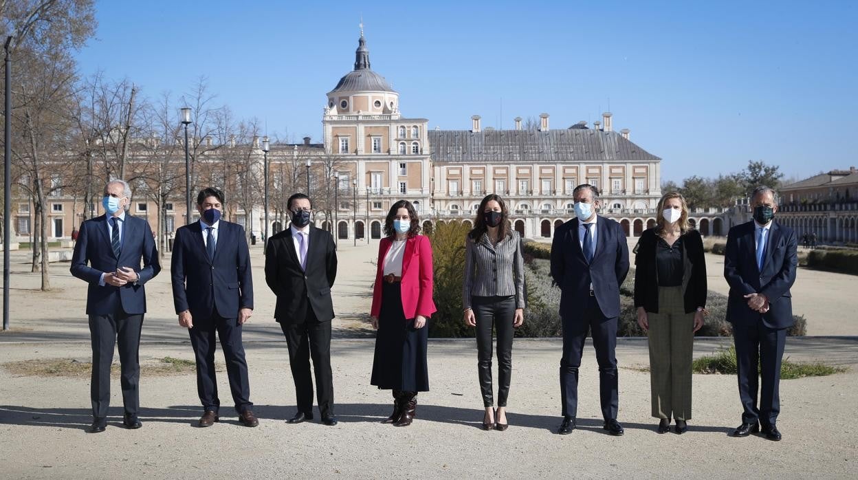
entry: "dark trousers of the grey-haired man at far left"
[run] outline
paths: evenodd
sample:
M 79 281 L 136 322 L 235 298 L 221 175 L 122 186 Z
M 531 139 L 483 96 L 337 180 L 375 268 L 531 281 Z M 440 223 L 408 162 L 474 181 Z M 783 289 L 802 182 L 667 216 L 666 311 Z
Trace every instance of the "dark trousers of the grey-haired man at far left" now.
M 140 410 L 140 331 L 143 315 L 124 312 L 89 316 L 89 337 L 93 346 L 93 374 L 89 396 L 93 416 L 104 418 L 110 406 L 110 367 L 113 348 L 119 345 L 119 365 L 122 370 L 122 403 L 125 413 L 136 415 Z

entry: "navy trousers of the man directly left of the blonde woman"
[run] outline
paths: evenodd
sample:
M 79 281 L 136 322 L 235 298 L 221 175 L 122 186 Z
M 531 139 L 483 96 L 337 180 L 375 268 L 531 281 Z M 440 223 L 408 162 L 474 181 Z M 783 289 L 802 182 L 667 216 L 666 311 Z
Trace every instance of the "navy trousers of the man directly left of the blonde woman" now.
M 605 420 L 617 418 L 619 387 L 617 382 L 617 318 L 601 313 L 594 296 L 588 297 L 583 310 L 563 315 L 563 358 L 560 359 L 560 399 L 563 416 L 577 416 L 578 368 L 581 367 L 584 340 L 592 331 L 596 362 L 599 363 L 599 399 Z

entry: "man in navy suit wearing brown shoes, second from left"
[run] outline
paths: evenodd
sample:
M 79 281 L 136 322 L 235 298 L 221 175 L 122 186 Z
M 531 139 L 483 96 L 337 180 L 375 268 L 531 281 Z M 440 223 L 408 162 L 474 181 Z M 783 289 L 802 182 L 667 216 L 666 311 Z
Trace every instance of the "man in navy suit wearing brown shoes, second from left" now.
M 199 222 L 176 230 L 172 246 L 172 296 L 178 325 L 190 332 L 196 355 L 196 390 L 202 402 L 200 427 L 220 420 L 215 378 L 215 332 L 227 361 L 229 388 L 239 422 L 259 424 L 253 415 L 241 328 L 253 312 L 253 278 L 245 229 L 221 220 L 223 192 L 206 188 L 196 196 Z

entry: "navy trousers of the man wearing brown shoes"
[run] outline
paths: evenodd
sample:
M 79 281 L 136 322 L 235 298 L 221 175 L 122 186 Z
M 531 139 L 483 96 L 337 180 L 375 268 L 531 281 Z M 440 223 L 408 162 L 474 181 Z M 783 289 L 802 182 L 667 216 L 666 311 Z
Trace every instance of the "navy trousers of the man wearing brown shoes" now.
M 247 376 L 245 347 L 241 343 L 241 325 L 239 319 L 224 319 L 213 313 L 209 319 L 194 319 L 190 328 L 190 345 L 196 356 L 196 392 L 200 396 L 202 410 L 217 412 L 221 408 L 221 399 L 217 394 L 215 376 L 215 333 L 221 339 L 223 357 L 227 362 L 229 389 L 233 393 L 235 410 L 243 413 L 253 407 L 251 403 L 251 383 Z

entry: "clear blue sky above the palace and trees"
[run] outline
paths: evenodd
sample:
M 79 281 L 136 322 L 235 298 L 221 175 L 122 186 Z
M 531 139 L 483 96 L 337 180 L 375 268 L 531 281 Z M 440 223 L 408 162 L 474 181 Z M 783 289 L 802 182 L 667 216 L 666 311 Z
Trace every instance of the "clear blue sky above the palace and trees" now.
M 858 2 L 99 1 L 82 75 L 217 102 L 269 134 L 322 137 L 325 94 L 353 68 L 363 15 L 372 70 L 430 127 L 552 128 L 601 119 L 664 159 L 662 179 L 749 160 L 803 178 L 858 166 Z M 501 105 L 503 110 L 501 111 Z

